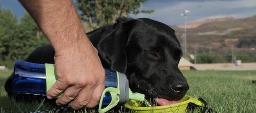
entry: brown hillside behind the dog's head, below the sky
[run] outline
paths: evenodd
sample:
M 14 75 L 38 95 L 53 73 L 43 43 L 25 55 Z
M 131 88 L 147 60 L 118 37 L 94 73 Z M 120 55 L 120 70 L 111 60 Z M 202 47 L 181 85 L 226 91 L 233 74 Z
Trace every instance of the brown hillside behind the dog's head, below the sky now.
M 172 26 L 182 42 L 183 25 Z M 188 23 L 187 49 L 194 53 L 199 50 L 210 50 L 218 53 L 230 52 L 234 46 L 237 51 L 255 54 L 256 48 L 256 15 L 247 18 L 207 19 Z

